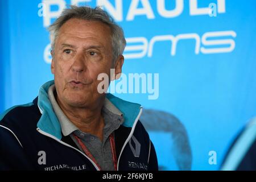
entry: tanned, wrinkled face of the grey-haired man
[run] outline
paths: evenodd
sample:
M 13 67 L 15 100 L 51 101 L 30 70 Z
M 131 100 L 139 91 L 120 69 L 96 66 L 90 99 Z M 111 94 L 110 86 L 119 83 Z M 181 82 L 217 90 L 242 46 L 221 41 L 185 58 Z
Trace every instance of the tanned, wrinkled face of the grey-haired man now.
M 119 63 L 113 63 L 110 28 L 101 22 L 81 19 L 69 19 L 63 24 L 52 56 L 57 97 L 62 104 L 73 107 L 95 104 L 102 96 L 97 91 L 101 82 L 98 75 L 110 76 L 110 68 L 121 72 L 123 63 L 123 57 L 117 60 Z

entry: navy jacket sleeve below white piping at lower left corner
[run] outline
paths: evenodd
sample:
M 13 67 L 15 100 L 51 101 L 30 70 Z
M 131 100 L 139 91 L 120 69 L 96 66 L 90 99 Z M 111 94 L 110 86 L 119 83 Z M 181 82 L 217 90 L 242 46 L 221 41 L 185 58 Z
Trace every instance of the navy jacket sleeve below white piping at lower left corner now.
M 32 169 L 15 135 L 0 126 L 0 170 Z

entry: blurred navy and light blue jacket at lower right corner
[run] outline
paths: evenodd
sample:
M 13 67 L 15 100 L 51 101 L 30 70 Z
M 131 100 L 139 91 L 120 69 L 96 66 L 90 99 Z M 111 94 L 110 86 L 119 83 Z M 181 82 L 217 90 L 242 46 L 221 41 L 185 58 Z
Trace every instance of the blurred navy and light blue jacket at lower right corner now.
M 256 170 L 256 118 L 242 129 L 224 158 L 221 169 L 225 171 Z

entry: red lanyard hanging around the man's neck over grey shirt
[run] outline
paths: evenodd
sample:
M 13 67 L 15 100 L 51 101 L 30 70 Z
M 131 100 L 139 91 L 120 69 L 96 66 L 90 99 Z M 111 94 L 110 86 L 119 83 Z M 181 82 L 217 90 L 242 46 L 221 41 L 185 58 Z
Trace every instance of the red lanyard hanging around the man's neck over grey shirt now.
M 85 152 L 85 154 L 93 160 L 93 162 L 96 164 L 96 166 L 101 170 L 100 165 L 97 163 L 96 159 L 93 157 L 93 155 L 90 153 L 90 151 L 88 150 L 88 148 L 85 146 L 84 143 L 82 143 L 82 141 L 80 140 L 80 138 L 78 138 L 75 134 L 73 134 L 73 136 L 76 138 L 77 142 L 80 144 L 80 146 L 82 147 L 82 150 Z M 111 152 L 112 152 L 112 159 L 113 159 L 113 163 L 114 163 L 114 168 L 115 171 L 117 171 L 117 155 L 115 154 L 115 141 L 114 141 L 114 135 L 110 134 L 109 135 L 109 140 L 110 140 L 110 146 L 111 146 Z

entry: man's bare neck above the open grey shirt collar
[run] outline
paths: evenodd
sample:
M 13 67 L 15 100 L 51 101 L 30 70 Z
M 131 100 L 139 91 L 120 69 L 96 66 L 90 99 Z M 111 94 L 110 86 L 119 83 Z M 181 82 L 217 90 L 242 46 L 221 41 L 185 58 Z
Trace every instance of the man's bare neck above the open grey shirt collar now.
M 104 104 L 103 101 L 99 102 L 95 108 L 73 108 L 64 105 L 58 97 L 55 96 L 55 98 L 63 113 L 79 130 L 95 135 L 101 141 L 103 140 L 103 129 L 105 126 L 104 117 L 101 114 L 101 108 Z

